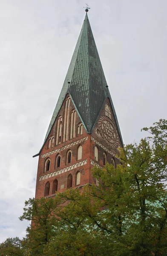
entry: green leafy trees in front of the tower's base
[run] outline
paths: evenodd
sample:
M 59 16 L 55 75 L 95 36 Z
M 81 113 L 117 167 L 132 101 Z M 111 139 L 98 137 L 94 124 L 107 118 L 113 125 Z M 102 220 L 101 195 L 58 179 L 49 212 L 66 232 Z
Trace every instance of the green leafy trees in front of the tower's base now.
M 18 247 L 22 255 L 167 255 L 167 120 L 143 130 L 150 136 L 121 148 L 116 169 L 92 169 L 98 187 L 26 201 L 20 220 L 32 225 Z M 7 240 L 1 255 L 20 255 Z

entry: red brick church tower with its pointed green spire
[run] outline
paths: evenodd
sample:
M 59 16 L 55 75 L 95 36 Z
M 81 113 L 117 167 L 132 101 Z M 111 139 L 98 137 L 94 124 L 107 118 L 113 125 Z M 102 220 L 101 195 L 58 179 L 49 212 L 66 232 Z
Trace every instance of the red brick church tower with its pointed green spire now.
M 97 184 L 93 166 L 119 163 L 121 131 L 87 12 L 44 143 L 34 156 L 39 156 L 35 198 Z

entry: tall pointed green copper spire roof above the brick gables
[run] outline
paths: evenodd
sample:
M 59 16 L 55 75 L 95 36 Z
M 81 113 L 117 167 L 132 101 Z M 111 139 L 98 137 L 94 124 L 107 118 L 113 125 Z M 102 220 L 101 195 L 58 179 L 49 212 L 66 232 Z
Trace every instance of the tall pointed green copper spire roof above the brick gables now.
M 70 87 L 68 81 L 70 81 Z M 67 93 L 69 93 L 76 111 L 88 133 L 92 132 L 104 102 L 106 98 L 109 97 L 118 132 L 122 140 L 115 109 L 112 104 L 109 90 L 107 90 L 106 86 L 107 81 L 104 76 L 104 71 L 86 12 L 83 26 L 44 143 L 51 131 L 52 125 L 55 122 Z

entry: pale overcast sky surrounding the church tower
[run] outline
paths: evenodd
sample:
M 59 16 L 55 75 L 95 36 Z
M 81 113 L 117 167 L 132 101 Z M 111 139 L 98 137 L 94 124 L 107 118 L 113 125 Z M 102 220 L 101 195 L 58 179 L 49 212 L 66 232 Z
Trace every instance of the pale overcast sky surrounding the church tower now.
M 89 0 L 88 16 L 124 144 L 167 119 L 167 0 Z M 25 236 L 37 154 L 85 12 L 81 0 L 0 1 L 0 242 Z

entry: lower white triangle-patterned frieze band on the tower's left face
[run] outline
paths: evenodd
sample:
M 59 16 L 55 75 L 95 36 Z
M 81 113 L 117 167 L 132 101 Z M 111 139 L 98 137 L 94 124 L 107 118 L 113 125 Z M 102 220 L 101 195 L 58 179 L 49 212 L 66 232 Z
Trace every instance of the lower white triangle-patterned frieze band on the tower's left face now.
M 54 177 L 54 176 L 57 176 L 57 175 L 62 174 L 64 172 L 69 172 L 69 171 L 71 171 L 75 168 L 86 165 L 86 163 L 87 163 L 87 159 L 85 159 L 85 160 L 83 160 L 79 163 L 72 164 L 71 166 L 67 166 L 64 169 L 60 169 L 59 171 L 51 172 L 47 175 L 42 175 L 42 176 L 39 177 L 39 181 L 48 179 L 50 177 L 50 175 L 52 175 L 52 177 Z

